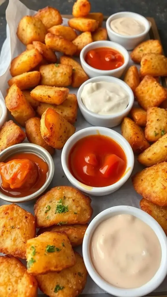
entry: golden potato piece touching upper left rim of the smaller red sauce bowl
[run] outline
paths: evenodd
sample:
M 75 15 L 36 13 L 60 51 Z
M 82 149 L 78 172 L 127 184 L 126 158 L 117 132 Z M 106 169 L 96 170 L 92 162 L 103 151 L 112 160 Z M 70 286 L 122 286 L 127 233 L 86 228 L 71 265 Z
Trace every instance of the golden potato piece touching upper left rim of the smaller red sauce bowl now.
M 93 42 L 93 39 L 90 32 L 83 32 L 81 35 L 78 35 L 78 37 L 73 40 L 73 43 L 77 46 L 75 56 L 79 56 L 81 50 L 91 42 Z

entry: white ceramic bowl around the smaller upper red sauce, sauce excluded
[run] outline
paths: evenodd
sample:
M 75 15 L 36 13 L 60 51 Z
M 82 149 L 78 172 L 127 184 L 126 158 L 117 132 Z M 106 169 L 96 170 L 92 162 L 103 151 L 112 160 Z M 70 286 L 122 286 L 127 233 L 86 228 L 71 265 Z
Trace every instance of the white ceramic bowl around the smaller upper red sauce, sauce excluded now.
M 86 53 L 89 50 L 93 50 L 94 48 L 103 48 L 103 47 L 107 47 L 107 48 L 114 48 L 115 50 L 119 51 L 122 56 L 124 57 L 124 64 L 117 68 L 117 69 L 113 69 L 113 70 L 100 70 L 100 69 L 96 69 L 91 67 L 89 64 L 86 63 L 85 61 L 85 56 Z M 125 68 L 127 67 L 127 64 L 129 62 L 129 53 L 127 52 L 127 50 L 125 48 L 122 47 L 122 45 L 119 45 L 118 43 L 112 42 L 112 41 L 108 41 L 108 40 L 101 40 L 101 41 L 95 41 L 92 43 L 89 43 L 88 45 L 86 45 L 80 53 L 80 60 L 81 60 L 81 65 L 83 70 L 87 73 L 87 75 L 92 78 L 92 77 L 96 77 L 96 76 L 101 76 L 101 75 L 109 75 L 109 76 L 114 76 L 114 77 L 121 77 L 122 73 L 124 72 Z

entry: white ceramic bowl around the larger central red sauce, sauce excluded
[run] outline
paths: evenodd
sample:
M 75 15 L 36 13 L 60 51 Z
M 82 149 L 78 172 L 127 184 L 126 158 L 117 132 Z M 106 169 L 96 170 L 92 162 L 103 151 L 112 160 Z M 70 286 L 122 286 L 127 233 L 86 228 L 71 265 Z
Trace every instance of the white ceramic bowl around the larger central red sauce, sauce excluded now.
M 105 135 L 108 137 L 111 137 L 114 139 L 119 145 L 122 147 L 122 149 L 125 152 L 126 158 L 127 158 L 127 168 L 125 170 L 124 175 L 122 178 L 117 181 L 115 184 L 112 184 L 107 187 L 90 187 L 85 184 L 82 184 L 80 181 L 78 181 L 70 172 L 69 165 L 68 165 L 68 157 L 70 150 L 74 146 L 74 144 L 80 140 L 83 137 L 86 137 L 88 135 L 97 135 L 97 134 Z M 134 154 L 132 151 L 132 148 L 130 144 L 127 142 L 127 140 L 120 135 L 118 132 L 104 128 L 104 127 L 89 127 L 82 129 L 75 134 L 73 134 L 65 143 L 63 150 L 62 150 L 62 168 L 64 170 L 65 175 L 67 176 L 68 180 L 71 184 L 73 184 L 74 187 L 78 188 L 79 190 L 92 195 L 92 196 L 104 196 L 108 195 L 112 192 L 115 192 L 120 187 L 122 187 L 123 184 L 127 181 L 127 179 L 130 177 L 133 166 L 134 166 Z

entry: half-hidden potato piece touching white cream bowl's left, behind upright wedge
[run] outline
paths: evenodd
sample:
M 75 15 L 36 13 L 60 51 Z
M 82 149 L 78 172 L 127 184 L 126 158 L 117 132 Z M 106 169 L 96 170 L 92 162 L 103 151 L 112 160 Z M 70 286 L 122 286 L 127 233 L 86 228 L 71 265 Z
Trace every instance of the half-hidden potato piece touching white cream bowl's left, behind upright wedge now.
M 53 108 L 71 124 L 74 124 L 77 119 L 78 102 L 75 94 L 69 94 L 67 99 L 60 105 L 40 103 L 37 113 L 42 116 L 47 108 Z

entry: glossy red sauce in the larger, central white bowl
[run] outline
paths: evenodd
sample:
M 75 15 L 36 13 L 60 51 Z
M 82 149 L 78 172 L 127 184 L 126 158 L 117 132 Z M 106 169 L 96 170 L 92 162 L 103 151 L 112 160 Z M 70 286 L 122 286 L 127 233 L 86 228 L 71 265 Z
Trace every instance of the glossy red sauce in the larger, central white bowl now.
M 112 138 L 89 135 L 78 140 L 68 159 L 71 174 L 90 187 L 106 187 L 124 174 L 127 159 L 122 147 Z

